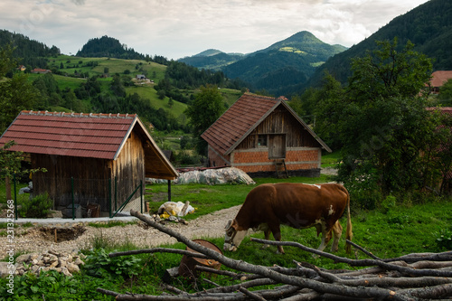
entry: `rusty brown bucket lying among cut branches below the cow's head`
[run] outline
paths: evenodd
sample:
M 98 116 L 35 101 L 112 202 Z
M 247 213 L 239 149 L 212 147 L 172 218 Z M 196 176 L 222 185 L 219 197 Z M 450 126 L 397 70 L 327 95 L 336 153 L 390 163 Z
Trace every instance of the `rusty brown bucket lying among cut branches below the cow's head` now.
M 193 242 L 199 243 L 200 245 L 202 245 L 202 247 L 212 249 L 222 255 L 221 249 L 218 248 L 217 246 L 215 246 L 210 241 L 193 240 Z M 186 248 L 186 250 L 191 251 L 191 252 L 196 252 L 195 250 L 190 249 L 188 247 Z M 179 275 L 183 276 L 183 277 L 192 278 L 192 279 L 195 277 L 198 277 L 200 274 L 200 271 L 196 270 L 194 268 L 195 266 L 203 266 L 203 267 L 208 267 L 208 268 L 220 269 L 221 263 L 218 262 L 217 260 L 213 260 L 213 259 L 198 259 L 196 257 L 190 257 L 190 256 L 184 255 L 181 260 L 181 264 L 179 265 Z

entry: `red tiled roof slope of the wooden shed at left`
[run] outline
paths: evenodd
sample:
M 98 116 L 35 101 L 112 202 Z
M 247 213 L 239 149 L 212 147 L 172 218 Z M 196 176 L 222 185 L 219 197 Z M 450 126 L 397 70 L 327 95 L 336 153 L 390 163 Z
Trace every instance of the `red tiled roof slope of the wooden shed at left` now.
M 22 111 L 0 137 L 12 151 L 116 159 L 137 115 Z

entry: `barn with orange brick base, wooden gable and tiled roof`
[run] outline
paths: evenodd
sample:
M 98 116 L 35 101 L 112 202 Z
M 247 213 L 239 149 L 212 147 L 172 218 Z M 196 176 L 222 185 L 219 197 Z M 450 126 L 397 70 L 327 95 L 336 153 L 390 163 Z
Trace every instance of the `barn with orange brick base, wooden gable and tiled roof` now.
M 209 165 L 237 167 L 250 176 L 319 176 L 325 142 L 286 98 L 243 94 L 202 138 Z

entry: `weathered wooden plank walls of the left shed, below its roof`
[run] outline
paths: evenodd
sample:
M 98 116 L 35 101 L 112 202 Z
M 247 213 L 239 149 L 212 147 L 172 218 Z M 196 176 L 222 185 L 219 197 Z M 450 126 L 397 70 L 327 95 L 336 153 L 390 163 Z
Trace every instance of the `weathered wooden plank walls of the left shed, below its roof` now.
M 32 154 L 33 168 L 43 167 L 46 173 L 33 174 L 33 194 L 49 193 L 55 207 L 74 202 L 86 206 L 99 203 L 101 210 L 109 211 L 109 200 L 117 208 L 145 181 L 145 152 L 141 139 L 134 132 L 120 151 L 118 159 L 106 160 L 62 155 Z M 110 180 L 111 179 L 111 180 Z M 109 190 L 111 181 L 111 191 Z M 115 188 L 116 183 L 116 188 Z

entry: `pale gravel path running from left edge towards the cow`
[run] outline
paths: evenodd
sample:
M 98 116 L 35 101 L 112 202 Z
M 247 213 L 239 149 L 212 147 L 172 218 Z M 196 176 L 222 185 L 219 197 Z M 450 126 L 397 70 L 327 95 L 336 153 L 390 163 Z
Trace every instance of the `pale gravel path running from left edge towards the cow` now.
M 167 227 L 178 231 L 189 239 L 207 239 L 218 238 L 224 235 L 224 226 L 227 221 L 233 219 L 240 206 L 234 206 L 223 209 L 219 212 L 212 212 L 199 217 L 196 220 L 188 221 L 188 225 L 181 223 L 168 222 Z M 75 224 L 74 224 L 75 225 Z M 147 225 L 138 221 L 137 224 L 129 224 L 124 227 L 116 226 L 110 228 L 95 228 L 84 226 L 86 229 L 75 240 L 66 240 L 55 243 L 52 233 L 43 233 L 36 226 L 23 228 L 22 226 L 14 230 L 14 252 L 32 253 L 44 250 L 54 250 L 57 252 L 70 252 L 79 249 L 89 249 L 93 240 L 112 240 L 116 242 L 131 242 L 140 248 L 155 247 L 165 243 L 174 243 L 176 240 L 165 233 L 153 228 L 147 228 Z M 0 237 L 0 258 L 6 256 L 6 251 L 10 248 L 8 238 Z

